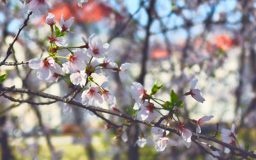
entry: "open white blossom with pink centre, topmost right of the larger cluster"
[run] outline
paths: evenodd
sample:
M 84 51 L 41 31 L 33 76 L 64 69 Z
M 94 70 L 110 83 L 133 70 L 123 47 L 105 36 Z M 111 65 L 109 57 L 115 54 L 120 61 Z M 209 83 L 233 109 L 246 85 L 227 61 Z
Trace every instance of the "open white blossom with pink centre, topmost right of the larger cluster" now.
M 109 44 L 105 43 L 102 44 L 102 41 L 100 37 L 98 36 L 92 36 L 88 39 L 89 41 L 89 48 L 87 50 L 88 54 L 96 57 L 96 58 L 103 58 L 103 53 L 108 52 L 109 50 Z

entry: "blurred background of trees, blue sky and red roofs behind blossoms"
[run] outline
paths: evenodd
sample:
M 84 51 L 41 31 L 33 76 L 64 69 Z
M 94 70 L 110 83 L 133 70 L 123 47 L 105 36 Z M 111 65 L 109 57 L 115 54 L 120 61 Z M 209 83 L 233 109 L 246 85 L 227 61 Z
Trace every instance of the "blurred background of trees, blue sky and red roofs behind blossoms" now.
M 6 4 L 5 4 L 5 3 Z M 116 58 L 118 65 L 132 64 L 130 78 L 121 83 L 117 74 L 108 77 L 93 75 L 99 84 L 109 81 L 108 90 L 116 95 L 116 108 L 130 113 L 134 100 L 130 85 L 137 81 L 148 91 L 157 79 L 163 88 L 156 97 L 170 99 L 173 89 L 183 94 L 190 89 L 190 81 L 198 78 L 196 87 L 203 92 L 204 103 L 191 96 L 183 97 L 181 113 L 198 120 L 213 115 L 202 127 L 202 134 L 213 135 L 216 123 L 221 128 L 236 124 L 241 148 L 245 144 L 255 148 L 256 120 L 256 1 L 237 0 L 89 0 L 79 8 L 76 0 L 50 1 L 56 25 L 60 18 L 74 17 L 67 33 L 68 46 L 84 45 L 84 40 L 95 33 L 103 43 L 109 43 L 106 56 Z M 17 0 L 0 3 L 0 60 L 6 55 L 28 10 Z M 28 61 L 47 57 L 51 31 L 45 17 L 30 17 L 13 46 L 7 62 Z M 68 52 L 61 50 L 62 56 Z M 28 65 L 1 66 L 0 75 L 7 74 L 3 86 L 29 88 L 58 96 L 71 92 L 63 81 L 45 82 L 36 78 L 36 71 Z M 48 99 L 7 94 L 16 99 L 48 102 Z M 76 96 L 78 101 L 81 95 Z M 102 108 L 109 109 L 108 104 Z M 61 102 L 50 105 L 30 105 L 0 97 L 1 154 L 9 159 L 209 159 L 192 143 L 187 149 L 181 137 L 171 134 L 177 147 L 156 152 L 154 147 L 134 146 L 140 135 L 138 128 L 127 130 L 128 141 L 114 140 L 116 129 L 96 116 L 84 116 L 84 110 Z M 124 119 L 103 114 L 117 124 Z M 157 121 L 157 119 L 156 119 Z M 184 120 L 192 132 L 196 126 Z M 150 128 L 140 125 L 150 136 Z M 177 127 L 172 124 L 172 127 Z M 220 134 L 217 139 L 220 139 Z M 220 154 L 224 156 L 223 147 Z M 249 150 L 250 150 L 249 149 Z

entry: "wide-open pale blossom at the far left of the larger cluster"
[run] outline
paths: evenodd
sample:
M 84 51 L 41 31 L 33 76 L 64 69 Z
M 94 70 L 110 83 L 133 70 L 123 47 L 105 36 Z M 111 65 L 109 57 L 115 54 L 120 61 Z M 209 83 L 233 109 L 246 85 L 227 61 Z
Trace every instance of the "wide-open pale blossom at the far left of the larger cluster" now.
M 60 65 L 54 62 L 52 57 L 48 57 L 47 60 L 41 60 L 40 58 L 33 58 L 29 60 L 28 66 L 32 69 L 38 69 L 36 77 L 40 80 L 46 80 L 49 76 L 55 73 L 61 74 Z

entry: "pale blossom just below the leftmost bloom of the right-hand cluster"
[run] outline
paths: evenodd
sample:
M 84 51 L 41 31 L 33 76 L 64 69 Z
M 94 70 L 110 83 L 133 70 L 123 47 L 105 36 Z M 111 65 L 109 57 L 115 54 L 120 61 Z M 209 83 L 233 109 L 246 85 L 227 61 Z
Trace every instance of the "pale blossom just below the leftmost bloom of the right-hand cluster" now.
M 140 121 L 146 119 L 148 121 L 152 121 L 156 116 L 161 116 L 160 113 L 156 111 L 153 103 L 148 103 L 145 101 L 142 106 L 143 107 L 141 107 L 137 113 L 137 118 L 139 118 Z

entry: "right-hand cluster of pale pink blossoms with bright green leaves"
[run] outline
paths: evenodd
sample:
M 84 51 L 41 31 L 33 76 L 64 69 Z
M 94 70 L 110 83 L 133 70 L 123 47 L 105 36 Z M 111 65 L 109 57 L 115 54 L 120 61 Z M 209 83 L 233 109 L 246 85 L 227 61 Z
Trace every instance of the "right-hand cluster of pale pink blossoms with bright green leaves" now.
M 195 89 L 197 82 L 198 82 L 197 79 L 192 80 L 190 91 L 183 95 L 191 95 L 195 100 L 203 103 L 203 101 L 205 99 L 202 97 L 202 92 L 199 89 Z M 176 95 L 173 90 L 171 92 L 170 101 L 166 101 L 166 102 L 164 102 L 164 104 L 157 102 L 157 100 L 159 100 L 159 99 L 154 98 L 152 95 L 156 94 L 156 92 L 158 92 L 158 90 L 161 87 L 162 87 L 162 84 L 157 85 L 157 83 L 155 82 L 155 85 L 151 89 L 151 93 L 147 94 L 147 91 L 144 89 L 142 84 L 140 84 L 138 82 L 132 83 L 132 85 L 131 85 L 132 99 L 135 100 L 133 109 L 139 110 L 137 112 L 137 118 L 140 121 L 143 121 L 143 120 L 152 121 L 157 116 L 164 116 L 160 110 L 162 110 L 162 109 L 168 110 L 169 113 L 167 115 L 169 115 L 169 119 L 173 119 L 178 124 L 179 132 L 181 134 L 181 137 L 184 140 L 184 144 L 187 148 L 189 148 L 191 145 L 192 132 L 184 127 L 184 125 L 180 122 L 179 118 L 177 118 L 177 116 L 179 115 L 179 112 L 177 110 L 173 109 L 174 106 L 182 108 L 183 102 L 181 100 L 178 101 L 178 95 Z M 180 96 L 182 96 L 182 95 L 180 95 Z M 153 102 L 150 102 L 150 100 L 153 100 Z M 160 100 L 160 101 L 162 101 L 162 100 Z M 154 103 L 157 103 L 160 106 L 156 107 Z M 212 118 L 213 118 L 213 116 L 204 116 L 197 121 L 192 120 L 192 122 L 197 125 L 196 133 L 201 133 L 200 126 L 202 126 L 205 121 L 209 121 Z M 169 121 L 169 119 L 168 119 L 168 121 Z M 168 123 L 166 125 L 168 125 Z M 160 128 L 158 128 L 158 129 L 159 129 L 159 131 L 162 131 L 162 132 L 160 134 L 158 134 L 157 138 L 155 138 L 156 151 L 163 151 L 167 145 L 177 146 L 177 142 L 175 140 L 171 140 L 166 137 L 166 134 L 168 131 L 160 129 Z M 153 137 L 154 136 L 155 135 L 153 135 Z M 139 140 L 136 143 L 139 145 L 139 147 L 143 147 L 147 141 L 150 141 L 150 140 L 146 139 L 144 137 L 144 135 L 142 134 L 142 136 L 139 137 Z M 148 143 L 151 144 L 150 142 L 148 142 Z

